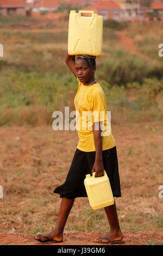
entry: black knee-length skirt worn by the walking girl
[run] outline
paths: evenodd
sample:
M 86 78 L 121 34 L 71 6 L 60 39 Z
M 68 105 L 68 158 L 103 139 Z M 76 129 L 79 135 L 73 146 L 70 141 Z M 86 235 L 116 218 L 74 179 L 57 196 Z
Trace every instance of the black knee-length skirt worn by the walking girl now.
M 60 194 L 61 198 L 74 199 L 87 197 L 84 186 L 86 174 L 92 175 L 92 167 L 95 163 L 96 151 L 85 152 L 76 149 L 64 184 L 55 188 L 54 193 Z M 103 165 L 108 175 L 112 194 L 114 197 L 121 197 L 120 176 L 118 172 L 118 159 L 116 146 L 103 150 Z

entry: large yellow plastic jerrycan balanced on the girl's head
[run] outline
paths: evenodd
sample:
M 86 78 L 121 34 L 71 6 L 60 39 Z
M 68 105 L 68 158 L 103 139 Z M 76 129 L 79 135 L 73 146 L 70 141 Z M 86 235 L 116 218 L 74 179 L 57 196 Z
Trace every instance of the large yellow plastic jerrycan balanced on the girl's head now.
M 91 16 L 82 16 L 91 13 Z M 103 16 L 93 11 L 70 11 L 68 24 L 68 54 L 100 56 L 102 52 Z

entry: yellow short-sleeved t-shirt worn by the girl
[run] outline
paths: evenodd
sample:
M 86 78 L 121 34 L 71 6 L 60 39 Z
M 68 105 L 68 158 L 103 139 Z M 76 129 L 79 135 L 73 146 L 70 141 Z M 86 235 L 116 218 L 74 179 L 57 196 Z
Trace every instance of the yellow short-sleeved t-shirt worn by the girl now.
M 77 148 L 86 152 L 96 151 L 92 126 L 99 121 L 102 121 L 102 150 L 115 147 L 115 139 L 106 115 L 106 97 L 101 85 L 96 83 L 84 86 L 78 78 L 77 80 L 79 87 L 74 97 L 76 130 L 79 136 Z

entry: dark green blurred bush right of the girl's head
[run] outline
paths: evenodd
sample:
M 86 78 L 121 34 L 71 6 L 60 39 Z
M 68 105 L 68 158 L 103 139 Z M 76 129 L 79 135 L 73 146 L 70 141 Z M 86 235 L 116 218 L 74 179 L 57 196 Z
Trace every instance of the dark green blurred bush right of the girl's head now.
M 98 77 L 111 85 L 127 86 L 130 82 L 142 84 L 145 78 L 163 78 L 162 66 L 133 55 L 116 52 L 114 58 L 101 62 L 97 70 Z

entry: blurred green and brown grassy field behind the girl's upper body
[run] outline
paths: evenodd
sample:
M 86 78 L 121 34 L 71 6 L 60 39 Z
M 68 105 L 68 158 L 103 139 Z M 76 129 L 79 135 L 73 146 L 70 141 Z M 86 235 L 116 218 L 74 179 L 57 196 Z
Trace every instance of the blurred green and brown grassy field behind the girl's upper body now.
M 29 17 L 0 17 L 0 22 L 7 24 L 9 28 L 12 25 L 21 28 L 16 31 L 4 26 L 0 31 L 2 44 L 5 46 L 4 57 L 0 59 L 0 125 L 50 124 L 55 110 L 70 106 L 70 111 L 73 111 L 78 83 L 64 60 L 68 31 L 25 31 L 23 25 L 30 28 L 38 23 Z M 40 21 L 40 26 L 45 23 L 46 28 L 49 21 L 46 22 Z M 66 30 L 67 21 L 61 22 L 61 25 L 55 22 L 54 28 L 62 28 L 63 24 Z M 146 33 L 147 26 L 104 22 L 104 54 L 97 58 L 96 79 L 106 95 L 107 110 L 119 113 L 118 118 L 113 117 L 113 122 L 121 122 L 122 117 L 127 122 L 162 118 L 159 100 L 162 97 L 163 81 L 161 62 L 148 62 L 130 54 L 118 44 L 116 34 L 118 29 L 123 29 L 125 33 L 128 31 L 130 36 L 134 36 L 133 31 L 135 34 L 136 31 L 145 33 L 145 44 L 139 41 L 135 44 L 140 47 L 140 51 L 146 47 L 147 51 L 151 51 L 151 57 L 154 57 L 158 50 L 155 48 L 156 39 L 152 37 L 150 29 L 149 35 Z M 52 27 L 53 22 L 50 28 Z M 154 29 L 156 28 L 153 27 L 153 31 Z M 161 39 L 161 33 L 158 36 Z M 132 88 L 136 95 L 130 101 L 128 91 Z M 157 92 L 155 88 L 160 90 Z M 42 117 L 39 117 L 40 111 Z

